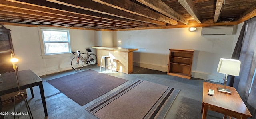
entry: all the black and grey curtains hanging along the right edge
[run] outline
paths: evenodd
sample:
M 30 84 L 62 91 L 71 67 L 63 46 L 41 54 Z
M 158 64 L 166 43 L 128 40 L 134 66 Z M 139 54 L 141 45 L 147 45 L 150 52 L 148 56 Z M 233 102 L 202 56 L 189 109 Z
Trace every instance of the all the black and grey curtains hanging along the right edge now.
M 233 86 L 248 107 L 252 119 L 256 118 L 256 17 L 244 22 L 232 59 L 241 61 L 239 76 L 228 76 L 228 86 Z M 254 81 L 254 82 L 253 82 Z M 252 88 L 251 88 L 252 87 Z M 249 92 L 251 88 L 251 92 Z

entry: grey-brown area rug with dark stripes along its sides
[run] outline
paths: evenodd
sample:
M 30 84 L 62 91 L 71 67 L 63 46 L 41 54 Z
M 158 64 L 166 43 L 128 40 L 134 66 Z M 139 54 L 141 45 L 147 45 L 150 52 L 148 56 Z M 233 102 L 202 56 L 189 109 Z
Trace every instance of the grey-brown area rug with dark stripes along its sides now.
M 100 119 L 163 119 L 179 91 L 137 79 L 86 110 Z

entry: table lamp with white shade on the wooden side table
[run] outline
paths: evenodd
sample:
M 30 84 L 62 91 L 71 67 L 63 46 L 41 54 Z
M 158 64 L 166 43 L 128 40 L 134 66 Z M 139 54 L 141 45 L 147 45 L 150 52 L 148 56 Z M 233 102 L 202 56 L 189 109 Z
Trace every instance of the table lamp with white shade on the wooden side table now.
M 224 87 L 223 88 L 218 87 L 218 92 L 231 94 L 230 90 L 226 89 L 227 77 L 228 75 L 239 76 L 240 65 L 241 65 L 241 62 L 239 60 L 220 58 L 217 72 L 225 74 L 224 75 L 225 80 L 224 80 Z

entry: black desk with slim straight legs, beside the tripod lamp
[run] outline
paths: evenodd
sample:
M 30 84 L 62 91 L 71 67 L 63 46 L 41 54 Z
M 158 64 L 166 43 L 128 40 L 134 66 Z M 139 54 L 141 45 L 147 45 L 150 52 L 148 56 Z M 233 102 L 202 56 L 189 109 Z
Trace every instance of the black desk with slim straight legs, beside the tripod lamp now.
M 44 107 L 44 114 L 45 116 L 47 116 L 48 114 L 47 114 L 46 102 L 44 97 L 43 80 L 31 70 L 18 71 L 17 75 L 18 75 L 18 80 L 20 84 L 20 90 L 30 88 L 32 98 L 34 98 L 33 87 L 39 86 L 42 103 Z M 1 77 L 3 79 L 3 82 L 0 83 L 0 96 L 19 91 L 15 72 L 2 74 Z M 0 101 L 0 111 L 1 112 L 3 111 L 1 101 Z M 4 116 L 0 115 L 0 119 L 4 119 Z

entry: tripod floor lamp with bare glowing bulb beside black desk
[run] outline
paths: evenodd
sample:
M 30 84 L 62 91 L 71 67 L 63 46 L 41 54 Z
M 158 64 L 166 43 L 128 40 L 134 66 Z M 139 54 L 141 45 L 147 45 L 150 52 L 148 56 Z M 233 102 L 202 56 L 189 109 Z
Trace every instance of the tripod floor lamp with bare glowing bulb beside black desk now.
M 25 104 L 26 104 L 29 117 L 30 117 L 30 119 L 33 119 L 32 113 L 31 113 L 30 108 L 29 108 L 29 105 L 28 105 L 28 101 L 27 101 L 27 99 L 26 99 L 26 97 L 25 97 L 25 93 L 24 93 L 24 92 L 21 92 L 21 90 L 20 90 L 20 83 L 19 83 L 18 75 L 17 75 L 17 71 L 16 71 L 16 70 L 17 70 L 17 62 L 18 62 L 18 59 L 15 58 L 15 55 L 14 55 L 13 51 L 12 51 L 12 53 L 11 53 L 11 62 L 12 62 L 13 69 L 14 69 L 14 71 L 15 71 L 16 80 L 17 80 L 18 88 L 19 88 L 18 94 L 14 96 L 14 113 L 15 113 L 15 101 L 16 101 L 16 97 L 22 96 L 22 98 L 23 98 L 23 100 L 24 100 L 24 102 L 25 102 Z M 15 119 L 15 115 L 14 115 L 14 119 Z

